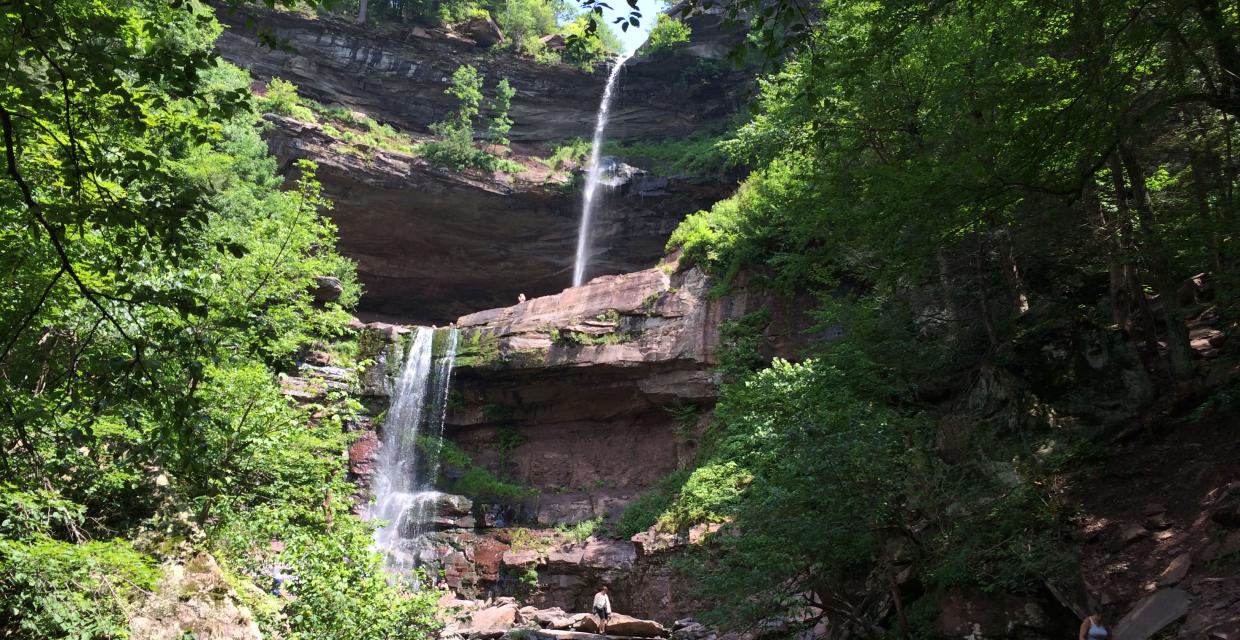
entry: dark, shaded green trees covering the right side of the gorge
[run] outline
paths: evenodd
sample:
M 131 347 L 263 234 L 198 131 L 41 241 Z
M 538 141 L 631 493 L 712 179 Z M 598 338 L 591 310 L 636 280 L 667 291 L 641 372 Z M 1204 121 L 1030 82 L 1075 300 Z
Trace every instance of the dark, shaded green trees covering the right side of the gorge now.
M 723 143 L 753 174 L 668 247 L 722 289 L 808 295 L 821 332 L 812 360 L 732 368 L 698 468 L 640 523 L 725 523 L 693 571 L 742 625 L 916 631 L 952 587 L 1063 584 L 1065 470 L 1234 362 L 1188 327 L 1240 310 L 1240 14 L 723 4 L 782 57 Z M 899 615 L 864 597 L 905 571 Z

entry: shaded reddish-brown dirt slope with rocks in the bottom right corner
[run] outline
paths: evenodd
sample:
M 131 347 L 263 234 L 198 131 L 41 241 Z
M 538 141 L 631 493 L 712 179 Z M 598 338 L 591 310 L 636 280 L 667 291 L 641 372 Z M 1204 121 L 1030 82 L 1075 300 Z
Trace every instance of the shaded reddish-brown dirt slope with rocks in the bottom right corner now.
M 1145 595 L 1178 587 L 1189 594 L 1188 615 L 1154 638 L 1240 639 L 1240 528 L 1211 520 L 1224 502 L 1240 500 L 1238 490 L 1224 499 L 1236 481 L 1236 407 L 1167 422 L 1114 445 L 1096 470 L 1083 471 L 1075 482 L 1083 569 L 1112 621 Z

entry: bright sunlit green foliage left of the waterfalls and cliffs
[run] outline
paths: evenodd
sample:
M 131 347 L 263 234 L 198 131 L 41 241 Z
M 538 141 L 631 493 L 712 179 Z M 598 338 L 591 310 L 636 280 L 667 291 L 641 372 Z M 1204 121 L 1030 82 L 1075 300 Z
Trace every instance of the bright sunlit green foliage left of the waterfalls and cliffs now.
M 211 10 L 27 2 L 0 33 L 0 635 L 122 636 L 156 564 L 205 549 L 244 593 L 293 568 L 269 633 L 427 636 L 332 499 L 352 409 L 279 393 L 358 287 L 314 165 L 280 189 Z

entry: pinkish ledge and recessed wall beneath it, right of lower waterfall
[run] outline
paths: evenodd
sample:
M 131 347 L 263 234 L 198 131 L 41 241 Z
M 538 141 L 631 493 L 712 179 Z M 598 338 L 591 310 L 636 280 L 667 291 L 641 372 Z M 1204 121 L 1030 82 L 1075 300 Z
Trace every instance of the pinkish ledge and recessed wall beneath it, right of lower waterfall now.
M 456 321 L 454 388 L 466 411 L 449 416 L 448 433 L 539 490 L 537 521 L 615 517 L 691 463 L 717 393 L 720 322 L 769 309 L 773 355 L 808 340 L 792 329 L 806 326 L 799 305 L 744 289 L 711 299 L 702 272 L 675 268 L 600 277 Z M 505 433 L 516 437 L 501 454 Z

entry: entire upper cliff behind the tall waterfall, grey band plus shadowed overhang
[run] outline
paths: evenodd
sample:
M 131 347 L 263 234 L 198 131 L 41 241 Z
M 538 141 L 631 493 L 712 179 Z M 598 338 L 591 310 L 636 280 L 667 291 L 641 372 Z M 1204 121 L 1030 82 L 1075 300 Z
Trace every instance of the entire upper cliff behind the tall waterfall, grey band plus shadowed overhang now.
M 221 11 L 228 29 L 219 52 L 262 81 L 281 77 L 317 102 L 342 105 L 425 131 L 455 108 L 446 96 L 453 71 L 474 64 L 486 91 L 500 78 L 516 89 L 515 143 L 589 138 L 605 73 L 538 64 L 489 51 L 467 36 L 418 26 L 367 26 L 293 14 Z M 693 19 L 694 43 L 680 52 L 634 58 L 614 108 L 609 139 L 683 136 L 714 130 L 732 115 L 750 83 L 718 62 L 719 29 Z M 290 51 L 259 41 L 259 31 Z M 341 153 L 314 125 L 273 119 L 272 150 L 320 165 L 335 203 L 340 251 L 358 262 L 366 287 L 361 311 L 371 319 L 445 324 L 477 309 L 511 304 L 517 294 L 546 295 L 572 280 L 580 195 L 572 184 L 521 176 L 464 176 L 417 158 L 367 150 Z M 730 193 L 733 184 L 692 177 L 639 176 L 606 193 L 599 207 L 591 274 L 653 264 L 676 224 Z

